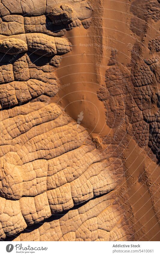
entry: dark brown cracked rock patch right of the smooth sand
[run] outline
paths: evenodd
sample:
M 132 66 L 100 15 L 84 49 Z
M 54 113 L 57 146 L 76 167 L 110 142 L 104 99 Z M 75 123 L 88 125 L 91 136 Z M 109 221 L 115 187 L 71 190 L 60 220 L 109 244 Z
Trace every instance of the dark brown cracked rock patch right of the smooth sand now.
M 130 63 L 125 67 L 131 74 L 121 71 L 117 62 L 117 51 L 112 50 L 107 70 L 105 85 L 98 91 L 99 100 L 107 109 L 107 123 L 118 127 L 124 119 L 125 132 L 129 133 L 140 147 L 154 161 L 160 159 L 160 112 L 159 112 L 159 13 L 158 1 L 132 1 L 130 6 L 130 30 L 135 43 L 128 43 L 131 52 Z M 151 39 L 150 27 L 154 28 Z M 156 30 L 158 27 L 158 30 Z M 146 43 L 148 41 L 148 43 Z M 125 52 L 126 54 L 126 52 Z M 127 58 L 126 58 L 127 59 Z M 117 107 L 115 103 L 118 104 Z M 117 115 L 118 113 L 118 115 Z M 131 127 L 128 129 L 128 127 Z M 124 133 L 124 129 L 122 131 Z M 125 134 L 125 133 L 124 133 Z

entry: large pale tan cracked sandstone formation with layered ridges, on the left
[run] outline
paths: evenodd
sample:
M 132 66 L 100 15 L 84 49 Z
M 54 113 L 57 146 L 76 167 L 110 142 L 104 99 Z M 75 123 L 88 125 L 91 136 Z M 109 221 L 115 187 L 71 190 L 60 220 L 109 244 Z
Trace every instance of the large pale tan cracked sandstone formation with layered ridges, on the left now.
M 107 195 L 122 181 L 122 160 L 50 103 L 55 68 L 72 49 L 62 36 L 89 28 L 90 3 L 2 0 L 0 12 L 0 238 L 129 240 L 123 207 Z

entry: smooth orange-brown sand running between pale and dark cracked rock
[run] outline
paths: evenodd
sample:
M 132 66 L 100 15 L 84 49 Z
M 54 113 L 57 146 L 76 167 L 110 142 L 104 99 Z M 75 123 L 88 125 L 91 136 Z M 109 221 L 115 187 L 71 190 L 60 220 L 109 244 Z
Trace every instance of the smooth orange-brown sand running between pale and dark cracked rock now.
M 106 136 L 113 131 L 106 123 L 106 108 L 97 97 L 100 85 L 105 84 L 105 71 L 111 49 L 117 50 L 117 62 L 124 74 L 130 74 L 131 49 L 128 44 L 140 40 L 129 27 L 131 1 L 93 0 L 93 17 L 89 30 L 82 27 L 71 30 L 67 38 L 72 52 L 63 57 L 55 73 L 64 86 L 52 101 L 61 105 L 75 120 L 83 112 L 81 125 L 89 133 Z M 144 57 L 147 56 L 148 40 L 156 34 L 158 23 L 149 27 L 143 42 Z M 152 111 L 155 111 L 153 108 Z M 159 166 L 144 150 L 128 136 L 124 151 L 125 179 L 122 187 L 127 193 L 119 197 L 126 211 L 128 221 L 135 232 L 135 240 L 159 240 L 158 195 Z

